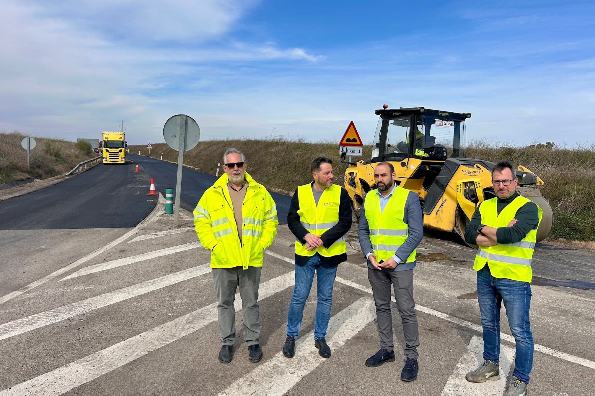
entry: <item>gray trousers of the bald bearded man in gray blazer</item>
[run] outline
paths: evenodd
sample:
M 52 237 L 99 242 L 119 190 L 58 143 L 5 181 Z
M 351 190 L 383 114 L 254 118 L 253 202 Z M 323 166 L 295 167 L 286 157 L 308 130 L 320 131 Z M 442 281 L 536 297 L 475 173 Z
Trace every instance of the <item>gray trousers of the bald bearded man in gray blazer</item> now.
M 403 322 L 405 335 L 405 349 L 403 354 L 411 359 L 417 359 L 419 346 L 419 331 L 417 316 L 415 315 L 415 301 L 413 299 L 413 269 L 406 271 L 372 270 L 368 268 L 368 280 L 372 286 L 372 294 L 376 305 L 378 321 L 378 335 L 380 347 L 387 351 L 393 350 L 393 316 L 390 312 L 390 286 L 394 287 L 394 297 L 397 309 Z

